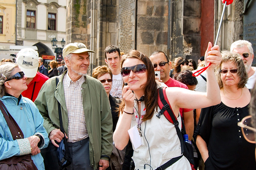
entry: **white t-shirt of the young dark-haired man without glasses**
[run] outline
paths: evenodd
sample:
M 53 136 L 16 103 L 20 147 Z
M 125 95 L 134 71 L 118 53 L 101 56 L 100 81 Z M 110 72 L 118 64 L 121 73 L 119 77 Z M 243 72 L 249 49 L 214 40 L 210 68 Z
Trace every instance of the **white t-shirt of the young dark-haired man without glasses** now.
M 121 73 L 114 75 L 112 81 L 112 88 L 110 90 L 110 95 L 113 97 L 118 97 L 122 99 L 122 89 L 123 89 L 123 78 Z

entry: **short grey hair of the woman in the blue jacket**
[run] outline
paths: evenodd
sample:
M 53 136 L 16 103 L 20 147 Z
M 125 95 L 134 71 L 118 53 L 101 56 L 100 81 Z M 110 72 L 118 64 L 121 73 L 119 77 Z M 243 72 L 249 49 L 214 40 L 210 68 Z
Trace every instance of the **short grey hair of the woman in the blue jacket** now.
M 3 63 L 0 65 L 0 97 L 5 95 L 5 80 L 12 77 L 12 73 L 16 67 L 19 67 L 17 63 Z

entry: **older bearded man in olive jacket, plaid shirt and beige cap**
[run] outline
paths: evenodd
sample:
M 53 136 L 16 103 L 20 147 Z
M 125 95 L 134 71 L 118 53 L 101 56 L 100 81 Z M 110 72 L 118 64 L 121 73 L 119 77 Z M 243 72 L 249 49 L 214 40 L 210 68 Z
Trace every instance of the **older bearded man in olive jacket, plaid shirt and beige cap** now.
M 68 71 L 59 76 L 57 87 L 55 77 L 46 81 L 35 104 L 44 117 L 52 144 L 58 147 L 55 141 L 60 142 L 64 137 L 59 129 L 59 101 L 63 129 L 73 157 L 68 169 L 105 170 L 113 148 L 113 123 L 102 83 L 86 75 L 90 64 L 88 52 L 94 53 L 82 43 L 68 44 L 63 49 Z

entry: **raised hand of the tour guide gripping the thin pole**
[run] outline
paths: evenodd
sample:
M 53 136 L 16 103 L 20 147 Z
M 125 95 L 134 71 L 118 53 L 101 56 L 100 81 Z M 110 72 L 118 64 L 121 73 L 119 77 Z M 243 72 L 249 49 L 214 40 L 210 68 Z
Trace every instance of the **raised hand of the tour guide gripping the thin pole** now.
M 218 45 L 212 47 L 212 43 L 209 42 L 205 52 L 205 65 L 212 63 L 208 69 L 214 70 L 220 64 L 221 60 L 220 47 Z

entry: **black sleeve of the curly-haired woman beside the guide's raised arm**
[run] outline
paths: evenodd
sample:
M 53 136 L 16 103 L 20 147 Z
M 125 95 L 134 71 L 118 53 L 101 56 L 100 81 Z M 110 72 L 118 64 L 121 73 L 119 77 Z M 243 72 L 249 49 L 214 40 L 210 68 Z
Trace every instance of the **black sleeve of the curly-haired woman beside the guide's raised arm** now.
M 213 117 L 212 115 L 214 112 L 213 107 L 214 106 L 201 109 L 198 125 L 194 133 L 195 141 L 196 141 L 196 136 L 199 134 L 208 145 L 210 135 L 211 135 L 211 129 L 212 129 L 212 117 Z

